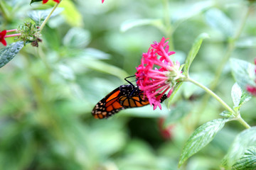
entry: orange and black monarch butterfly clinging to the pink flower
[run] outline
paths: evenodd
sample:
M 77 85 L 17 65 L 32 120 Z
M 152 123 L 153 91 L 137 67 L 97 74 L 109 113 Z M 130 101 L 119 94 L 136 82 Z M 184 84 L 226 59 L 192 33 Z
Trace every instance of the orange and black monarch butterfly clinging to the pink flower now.
M 127 78 L 125 78 L 126 81 Z M 96 104 L 92 109 L 94 118 L 108 118 L 122 109 L 137 108 L 149 104 L 149 100 L 144 96 L 143 91 L 137 86 L 134 86 L 131 82 L 127 82 L 129 83 L 128 85 L 117 87 L 117 89 L 111 91 L 110 94 L 107 94 L 105 98 L 102 98 L 102 100 Z M 166 94 L 161 97 L 161 102 L 165 99 Z

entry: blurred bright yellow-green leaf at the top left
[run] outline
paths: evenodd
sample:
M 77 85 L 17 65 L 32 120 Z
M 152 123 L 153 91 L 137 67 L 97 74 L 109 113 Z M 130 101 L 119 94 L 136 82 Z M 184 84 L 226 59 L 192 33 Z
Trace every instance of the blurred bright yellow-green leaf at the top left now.
M 65 9 L 63 15 L 71 26 L 80 27 L 83 25 L 81 13 L 75 8 L 73 1 L 61 1 L 59 6 Z

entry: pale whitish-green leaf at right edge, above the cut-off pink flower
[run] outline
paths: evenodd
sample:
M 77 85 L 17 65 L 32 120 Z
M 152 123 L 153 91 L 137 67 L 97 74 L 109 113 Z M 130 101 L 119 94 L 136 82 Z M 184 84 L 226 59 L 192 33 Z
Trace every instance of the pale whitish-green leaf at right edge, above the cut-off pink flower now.
M 255 65 L 243 60 L 231 59 L 231 70 L 235 81 L 246 91 L 247 86 L 256 86 L 255 84 Z

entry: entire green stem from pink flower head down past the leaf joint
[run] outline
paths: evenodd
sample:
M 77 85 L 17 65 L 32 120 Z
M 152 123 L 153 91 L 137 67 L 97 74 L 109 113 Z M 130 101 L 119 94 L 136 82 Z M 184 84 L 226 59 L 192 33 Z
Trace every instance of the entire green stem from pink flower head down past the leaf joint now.
M 221 105 L 226 108 L 228 111 L 230 111 L 230 113 L 233 113 L 233 115 L 235 115 L 234 120 L 238 120 L 243 126 L 245 126 L 245 128 L 250 128 L 250 125 L 248 125 L 245 120 L 243 120 L 240 116 L 240 113 L 235 112 L 232 108 L 230 108 L 230 106 L 228 106 L 227 103 L 225 103 L 225 101 L 223 101 L 219 96 L 217 96 L 215 93 L 213 93 L 213 91 L 211 91 L 210 89 L 208 89 L 206 86 L 204 86 L 203 84 L 199 83 L 198 81 L 195 81 L 191 78 L 187 78 L 186 81 L 190 81 L 193 84 L 196 84 L 196 86 L 200 86 L 203 90 L 205 90 L 210 96 L 213 96 L 213 98 L 215 98 L 218 102 L 221 103 Z

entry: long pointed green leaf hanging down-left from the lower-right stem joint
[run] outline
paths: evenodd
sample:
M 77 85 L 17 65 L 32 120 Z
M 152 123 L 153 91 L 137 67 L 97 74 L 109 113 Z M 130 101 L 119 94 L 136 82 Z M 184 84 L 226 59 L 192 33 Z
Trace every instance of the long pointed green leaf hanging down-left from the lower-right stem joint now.
M 181 166 L 186 159 L 208 145 L 217 132 L 223 128 L 226 122 L 228 122 L 228 119 L 211 120 L 197 128 L 183 147 L 178 166 Z

